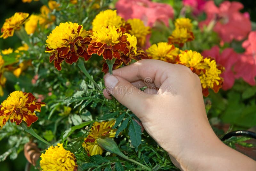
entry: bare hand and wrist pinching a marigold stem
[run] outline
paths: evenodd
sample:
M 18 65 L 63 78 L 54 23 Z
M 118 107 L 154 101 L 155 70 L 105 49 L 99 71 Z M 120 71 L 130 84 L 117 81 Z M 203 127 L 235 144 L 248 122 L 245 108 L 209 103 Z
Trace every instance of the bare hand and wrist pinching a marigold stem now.
M 225 159 L 224 156 L 237 154 L 213 132 L 205 112 L 200 79 L 188 67 L 141 60 L 114 70 L 113 75 L 107 74 L 104 79 L 105 97 L 111 99 L 112 94 L 129 108 L 181 170 L 212 170 L 209 160 L 216 165 L 217 156 Z M 140 91 L 144 86 L 148 88 Z M 225 165 L 218 167 L 222 169 Z

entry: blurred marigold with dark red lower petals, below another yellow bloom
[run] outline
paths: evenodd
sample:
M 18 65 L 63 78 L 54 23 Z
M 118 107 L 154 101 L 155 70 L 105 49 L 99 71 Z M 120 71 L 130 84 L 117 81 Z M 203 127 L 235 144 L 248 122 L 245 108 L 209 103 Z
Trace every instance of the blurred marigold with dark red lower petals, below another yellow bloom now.
M 179 44 L 180 47 L 188 41 L 195 39 L 193 32 L 189 32 L 187 28 L 176 27 L 172 31 L 172 35 L 168 37 L 170 44 Z

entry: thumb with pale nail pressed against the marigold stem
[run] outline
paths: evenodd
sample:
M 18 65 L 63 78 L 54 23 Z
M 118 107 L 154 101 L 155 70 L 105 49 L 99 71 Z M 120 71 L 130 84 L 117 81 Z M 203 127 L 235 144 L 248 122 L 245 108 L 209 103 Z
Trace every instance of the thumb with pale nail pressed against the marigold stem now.
M 116 100 L 130 109 L 140 118 L 140 114 L 145 113 L 146 101 L 152 95 L 144 93 L 135 85 L 122 77 L 108 75 L 105 78 L 105 86 L 108 93 L 112 94 Z

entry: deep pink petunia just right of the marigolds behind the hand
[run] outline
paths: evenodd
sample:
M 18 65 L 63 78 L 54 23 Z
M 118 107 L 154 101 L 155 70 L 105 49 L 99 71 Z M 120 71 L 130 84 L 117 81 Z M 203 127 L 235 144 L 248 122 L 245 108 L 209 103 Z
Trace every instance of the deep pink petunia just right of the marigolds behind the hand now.
M 220 75 L 224 78 L 222 88 L 228 90 L 235 83 L 235 73 L 232 71 L 233 65 L 238 61 L 238 54 L 232 48 L 226 48 L 220 54 L 220 48 L 218 46 L 212 47 L 210 50 L 202 52 L 202 56 L 211 56 L 215 58 L 216 63 L 225 67 L 225 71 Z

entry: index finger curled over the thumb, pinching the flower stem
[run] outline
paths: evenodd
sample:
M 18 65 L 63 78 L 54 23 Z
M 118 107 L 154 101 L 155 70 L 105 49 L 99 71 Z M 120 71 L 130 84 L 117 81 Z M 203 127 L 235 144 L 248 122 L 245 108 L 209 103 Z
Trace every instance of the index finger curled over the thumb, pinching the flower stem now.
M 156 86 L 161 85 L 162 77 L 167 77 L 164 71 L 170 69 L 171 63 L 167 63 L 154 59 L 143 59 L 131 65 L 124 66 L 113 70 L 113 75 L 117 75 L 129 82 L 144 80 L 147 84 L 155 83 Z M 104 79 L 107 75 L 104 76 Z

